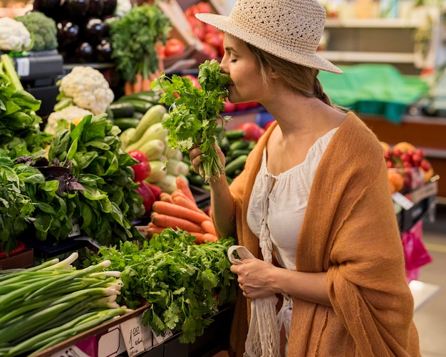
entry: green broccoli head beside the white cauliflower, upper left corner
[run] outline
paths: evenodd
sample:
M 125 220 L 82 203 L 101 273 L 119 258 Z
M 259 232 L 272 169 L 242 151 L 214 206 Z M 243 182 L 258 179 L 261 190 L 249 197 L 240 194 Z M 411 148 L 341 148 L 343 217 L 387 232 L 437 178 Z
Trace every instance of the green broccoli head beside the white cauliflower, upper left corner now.
M 33 38 L 31 51 L 50 51 L 58 47 L 56 21 L 39 11 L 30 11 L 15 18 L 21 21 Z

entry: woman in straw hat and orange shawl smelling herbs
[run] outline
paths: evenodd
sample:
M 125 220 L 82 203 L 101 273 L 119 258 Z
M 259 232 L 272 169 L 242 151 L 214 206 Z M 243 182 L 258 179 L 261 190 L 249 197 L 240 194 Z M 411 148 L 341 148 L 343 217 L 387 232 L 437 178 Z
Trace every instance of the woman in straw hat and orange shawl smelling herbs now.
M 317 79 L 342 73 L 316 55 L 325 10 L 238 0 L 228 17 L 197 18 L 225 33 L 229 100 L 261 103 L 276 119 L 230 187 L 224 175 L 209 182 L 219 236 L 254 254 L 231 268 L 241 294 L 229 353 L 420 356 L 383 149 Z M 196 172 L 200 155 L 190 150 Z M 262 314 L 275 296 L 278 322 Z

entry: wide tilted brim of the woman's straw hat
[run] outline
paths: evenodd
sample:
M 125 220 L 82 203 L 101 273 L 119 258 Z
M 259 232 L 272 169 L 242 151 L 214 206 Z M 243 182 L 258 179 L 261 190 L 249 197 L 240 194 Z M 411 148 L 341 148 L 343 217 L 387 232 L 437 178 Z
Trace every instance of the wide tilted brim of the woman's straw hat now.
M 237 24 L 233 24 L 228 16 L 218 15 L 218 14 L 195 14 L 195 17 L 205 24 L 212 25 L 217 29 L 227 32 L 230 35 L 241 39 L 244 42 L 250 43 L 252 46 L 256 46 L 263 51 L 273 54 L 279 58 L 283 58 L 286 61 L 300 64 L 309 68 L 316 68 L 321 71 L 338 73 L 341 74 L 340 68 L 336 67 L 326 58 L 316 55 L 316 53 L 311 53 L 308 55 L 299 54 L 294 51 L 289 51 L 278 43 L 269 41 L 267 38 L 261 37 L 255 33 L 251 33 L 242 29 Z

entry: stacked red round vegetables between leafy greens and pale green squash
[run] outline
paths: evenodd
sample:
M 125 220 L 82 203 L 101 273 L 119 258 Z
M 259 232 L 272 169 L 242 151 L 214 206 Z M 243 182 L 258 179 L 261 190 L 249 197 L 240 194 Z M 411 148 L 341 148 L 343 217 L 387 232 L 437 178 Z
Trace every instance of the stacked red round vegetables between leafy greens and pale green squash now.
M 135 172 L 133 180 L 140 183 L 136 190 L 138 191 L 138 195 L 142 197 L 142 205 L 147 214 L 152 210 L 153 203 L 160 199 L 161 189 L 157 185 L 145 181 L 151 171 L 147 155 L 140 150 L 130 150 L 128 154 L 139 162 L 132 166 L 133 172 Z

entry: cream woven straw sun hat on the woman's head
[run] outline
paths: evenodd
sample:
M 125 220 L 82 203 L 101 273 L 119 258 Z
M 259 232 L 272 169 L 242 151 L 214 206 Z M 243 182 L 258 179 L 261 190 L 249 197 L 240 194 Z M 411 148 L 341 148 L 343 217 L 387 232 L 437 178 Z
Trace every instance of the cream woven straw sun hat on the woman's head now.
M 316 55 L 326 21 L 326 10 L 317 0 L 237 0 L 229 16 L 195 16 L 274 56 L 342 73 L 333 63 Z

